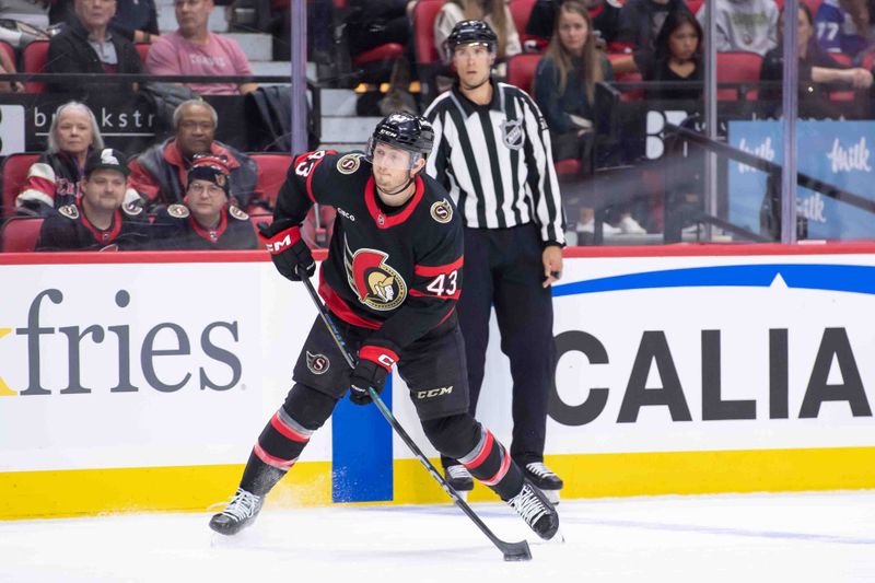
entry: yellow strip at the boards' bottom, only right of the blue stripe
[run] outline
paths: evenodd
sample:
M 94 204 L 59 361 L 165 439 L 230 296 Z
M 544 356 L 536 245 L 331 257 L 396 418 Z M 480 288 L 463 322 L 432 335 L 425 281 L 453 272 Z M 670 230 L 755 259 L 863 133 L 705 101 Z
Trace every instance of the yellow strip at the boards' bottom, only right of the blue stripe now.
M 575 454 L 545 462 L 564 480 L 563 499 L 875 488 L 875 447 Z M 478 483 L 468 500 L 498 497 Z M 446 501 L 419 460 L 396 459 L 396 503 Z

